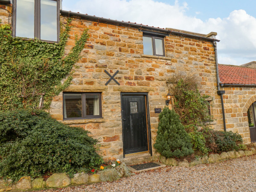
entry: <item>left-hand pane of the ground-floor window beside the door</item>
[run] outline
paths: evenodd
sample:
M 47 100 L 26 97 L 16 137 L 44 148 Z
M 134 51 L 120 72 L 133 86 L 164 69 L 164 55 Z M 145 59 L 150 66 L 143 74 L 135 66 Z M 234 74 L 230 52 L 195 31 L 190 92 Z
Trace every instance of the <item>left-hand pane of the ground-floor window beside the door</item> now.
M 64 94 L 64 118 L 82 117 L 82 94 Z

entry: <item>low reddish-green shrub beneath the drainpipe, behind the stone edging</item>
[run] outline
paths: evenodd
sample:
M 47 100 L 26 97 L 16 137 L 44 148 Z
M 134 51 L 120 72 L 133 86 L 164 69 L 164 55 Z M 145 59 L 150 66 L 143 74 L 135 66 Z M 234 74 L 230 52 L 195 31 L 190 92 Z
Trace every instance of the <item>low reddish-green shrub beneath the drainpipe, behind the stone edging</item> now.
M 213 153 L 238 151 L 244 148 L 243 139 L 238 133 L 204 129 L 203 134 L 206 138 L 206 147 Z

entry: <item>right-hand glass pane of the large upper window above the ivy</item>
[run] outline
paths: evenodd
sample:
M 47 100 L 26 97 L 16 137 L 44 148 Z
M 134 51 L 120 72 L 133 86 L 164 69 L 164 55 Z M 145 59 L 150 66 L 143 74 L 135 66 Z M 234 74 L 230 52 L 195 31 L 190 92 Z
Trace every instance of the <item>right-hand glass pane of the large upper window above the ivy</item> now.
M 41 40 L 57 40 L 57 1 L 41 0 Z

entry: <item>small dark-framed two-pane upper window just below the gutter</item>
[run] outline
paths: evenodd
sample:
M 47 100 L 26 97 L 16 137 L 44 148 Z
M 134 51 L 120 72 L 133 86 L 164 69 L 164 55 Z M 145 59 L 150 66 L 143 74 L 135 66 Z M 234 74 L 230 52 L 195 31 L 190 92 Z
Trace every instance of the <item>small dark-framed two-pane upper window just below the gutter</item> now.
M 164 40 L 161 36 L 143 34 L 143 54 L 164 56 Z

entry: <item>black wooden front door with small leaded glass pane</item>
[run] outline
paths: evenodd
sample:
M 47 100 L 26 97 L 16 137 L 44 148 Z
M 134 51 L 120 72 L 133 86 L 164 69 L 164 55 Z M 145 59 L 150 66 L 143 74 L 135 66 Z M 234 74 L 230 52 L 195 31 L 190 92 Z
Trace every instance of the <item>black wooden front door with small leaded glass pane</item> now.
M 124 154 L 148 151 L 145 95 L 122 95 Z

